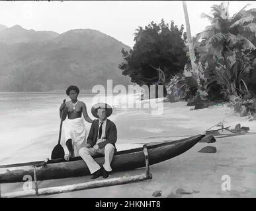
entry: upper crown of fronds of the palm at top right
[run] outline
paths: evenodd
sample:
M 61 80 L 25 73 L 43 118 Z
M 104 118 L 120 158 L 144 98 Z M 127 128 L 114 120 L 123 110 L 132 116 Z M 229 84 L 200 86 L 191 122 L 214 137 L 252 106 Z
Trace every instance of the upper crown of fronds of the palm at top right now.
M 207 26 L 203 32 L 196 34 L 197 40 L 200 38 L 208 41 L 209 44 L 223 45 L 223 49 L 234 49 L 241 45 L 244 49 L 255 49 L 251 43 L 251 34 L 256 32 L 256 24 L 253 22 L 255 16 L 252 11 L 245 11 L 245 5 L 233 17 L 228 12 L 229 3 L 222 2 L 220 5 L 213 5 L 212 16 L 202 13 L 202 18 L 208 18 L 211 25 Z M 249 32 L 249 33 L 248 33 Z

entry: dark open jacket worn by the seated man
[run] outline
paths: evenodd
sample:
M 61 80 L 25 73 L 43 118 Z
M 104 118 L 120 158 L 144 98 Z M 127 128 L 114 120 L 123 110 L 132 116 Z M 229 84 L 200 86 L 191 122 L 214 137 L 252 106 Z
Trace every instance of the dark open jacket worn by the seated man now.
M 90 144 L 91 146 L 94 146 L 97 142 L 97 136 L 99 131 L 99 119 L 93 120 L 93 123 L 91 123 L 91 129 L 89 132 L 89 135 L 87 137 L 87 144 Z M 117 131 L 116 131 L 116 125 L 109 119 L 106 121 L 106 140 L 99 143 L 99 148 L 104 148 L 106 144 L 110 143 L 115 146 L 116 138 L 117 138 Z

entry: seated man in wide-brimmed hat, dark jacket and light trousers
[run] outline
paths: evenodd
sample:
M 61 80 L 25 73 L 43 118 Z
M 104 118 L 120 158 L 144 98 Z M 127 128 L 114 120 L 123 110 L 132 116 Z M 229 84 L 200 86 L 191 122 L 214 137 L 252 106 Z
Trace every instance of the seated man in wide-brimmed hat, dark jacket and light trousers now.
M 107 119 L 112 113 L 112 107 L 108 106 L 108 104 L 99 103 L 91 108 L 91 113 L 99 119 L 94 120 L 91 124 L 87 144 L 79 150 L 79 155 L 93 174 L 91 179 L 96 179 L 101 175 L 107 178 L 110 171 L 112 171 L 110 164 L 114 155 L 117 133 L 116 125 Z M 105 155 L 103 167 L 99 166 L 91 157 L 97 154 Z

